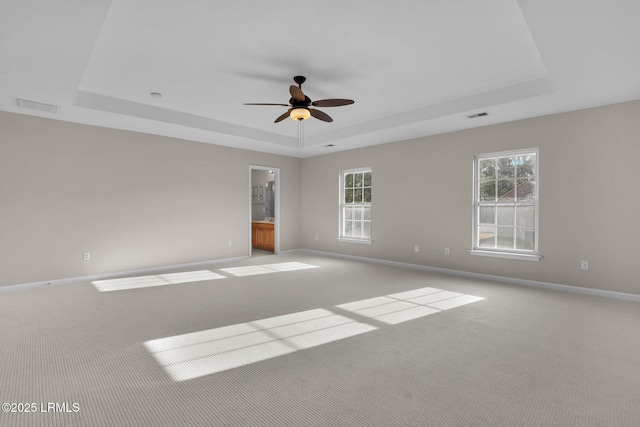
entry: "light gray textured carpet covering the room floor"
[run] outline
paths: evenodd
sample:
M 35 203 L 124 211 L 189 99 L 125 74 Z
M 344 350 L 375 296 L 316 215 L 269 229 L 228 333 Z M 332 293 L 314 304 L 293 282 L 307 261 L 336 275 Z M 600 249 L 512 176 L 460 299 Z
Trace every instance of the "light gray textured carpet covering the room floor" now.
M 318 268 L 223 270 L 285 262 Z M 37 411 L 0 425 L 639 425 L 637 303 L 307 253 L 198 269 L 225 278 L 1 294 L 0 400 Z M 425 287 L 484 299 L 398 324 L 337 307 Z M 184 381 L 145 346 L 318 309 L 375 330 Z

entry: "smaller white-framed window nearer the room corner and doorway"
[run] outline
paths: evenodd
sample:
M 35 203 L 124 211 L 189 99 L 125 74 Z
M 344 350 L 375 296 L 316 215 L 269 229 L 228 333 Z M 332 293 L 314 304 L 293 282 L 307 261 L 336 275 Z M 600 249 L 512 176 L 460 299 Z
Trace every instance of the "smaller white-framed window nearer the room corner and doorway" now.
M 340 174 L 340 239 L 371 243 L 371 168 Z

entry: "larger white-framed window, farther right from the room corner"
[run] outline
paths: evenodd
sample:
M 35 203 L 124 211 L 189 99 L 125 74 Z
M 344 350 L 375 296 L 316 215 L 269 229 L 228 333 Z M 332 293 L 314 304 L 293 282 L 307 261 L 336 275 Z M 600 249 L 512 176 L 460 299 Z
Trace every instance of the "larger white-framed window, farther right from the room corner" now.
M 472 253 L 540 258 L 537 159 L 537 149 L 476 156 Z

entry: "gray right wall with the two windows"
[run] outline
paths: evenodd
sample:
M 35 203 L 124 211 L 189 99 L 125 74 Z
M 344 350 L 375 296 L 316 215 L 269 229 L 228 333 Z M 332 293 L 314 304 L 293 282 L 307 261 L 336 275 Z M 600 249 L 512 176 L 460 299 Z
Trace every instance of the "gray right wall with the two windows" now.
M 470 255 L 474 155 L 533 147 L 540 149 L 542 260 Z M 304 159 L 303 188 L 313 191 L 302 193 L 302 245 L 640 294 L 639 162 L 640 101 Z M 338 175 L 361 166 L 373 168 L 370 246 L 336 240 Z M 580 260 L 590 261 L 589 271 Z

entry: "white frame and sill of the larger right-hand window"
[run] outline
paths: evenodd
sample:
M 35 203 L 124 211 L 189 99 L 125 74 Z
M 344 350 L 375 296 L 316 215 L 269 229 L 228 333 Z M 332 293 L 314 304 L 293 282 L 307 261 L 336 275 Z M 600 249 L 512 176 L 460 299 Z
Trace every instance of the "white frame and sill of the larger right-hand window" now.
M 494 202 L 486 202 L 486 201 L 480 201 L 480 171 L 479 171 L 479 164 L 481 160 L 484 159 L 489 159 L 489 158 L 498 158 L 498 157 L 511 157 L 511 156 L 518 156 L 518 155 L 525 155 L 525 154 L 535 154 L 536 157 L 536 161 L 535 161 L 535 167 L 534 167 L 534 174 L 535 174 L 535 187 L 534 187 L 534 197 L 533 197 L 533 204 L 534 204 L 534 225 L 533 225 L 533 230 L 534 230 L 534 241 L 533 241 L 533 249 L 532 250 L 525 250 L 525 249 L 506 249 L 506 248 L 487 248 L 487 247 L 481 247 L 480 246 L 480 236 L 479 236 L 479 229 L 480 229 L 480 224 L 479 224 L 479 220 L 480 220 L 480 207 L 481 206 L 505 206 L 505 205 L 513 205 L 514 207 L 517 206 L 524 206 L 524 205 L 530 205 L 532 202 L 529 201 L 525 201 L 525 202 L 519 202 L 517 199 L 514 201 L 509 201 L 509 202 L 500 202 L 499 200 L 495 200 Z M 539 198 L 539 188 L 540 188 L 540 174 L 539 174 L 539 165 L 540 165 L 540 152 L 538 148 L 529 148 L 529 149 L 523 149 L 523 150 L 513 150 L 513 151 L 502 151 L 502 152 L 498 152 L 498 153 L 487 153 L 487 154 L 479 154 L 476 155 L 474 157 L 473 160 L 473 243 L 472 243 L 472 249 L 469 251 L 470 254 L 472 255 L 480 255 L 480 256 L 489 256 L 489 257 L 497 257 L 497 258 L 509 258 L 509 259 L 520 259 L 520 260 L 527 260 L 527 261 L 539 261 L 542 256 L 538 253 L 538 238 L 540 235 L 540 221 L 539 221 L 539 208 L 540 208 L 540 198 Z M 515 176 L 514 179 L 517 179 L 517 174 Z M 497 180 L 496 180 L 497 183 Z M 517 181 L 515 183 L 514 188 L 517 188 Z M 496 197 L 497 197 L 497 193 L 496 193 Z M 496 215 L 497 213 L 497 209 L 496 209 Z M 516 238 L 516 231 L 517 231 L 517 224 L 515 223 L 515 221 L 517 221 L 517 216 L 514 215 L 514 239 Z M 497 224 L 497 222 L 496 222 Z M 515 245 L 514 245 L 515 246 Z

